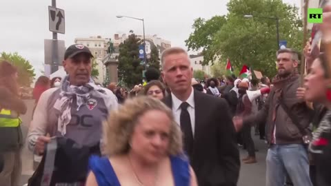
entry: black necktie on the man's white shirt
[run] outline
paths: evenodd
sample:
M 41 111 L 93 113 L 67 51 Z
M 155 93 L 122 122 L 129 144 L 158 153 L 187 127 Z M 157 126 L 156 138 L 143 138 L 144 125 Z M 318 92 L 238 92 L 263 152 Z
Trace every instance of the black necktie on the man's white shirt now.
M 184 150 L 188 156 L 192 155 L 193 134 L 190 113 L 188 113 L 188 103 L 181 103 L 181 131 L 184 133 Z

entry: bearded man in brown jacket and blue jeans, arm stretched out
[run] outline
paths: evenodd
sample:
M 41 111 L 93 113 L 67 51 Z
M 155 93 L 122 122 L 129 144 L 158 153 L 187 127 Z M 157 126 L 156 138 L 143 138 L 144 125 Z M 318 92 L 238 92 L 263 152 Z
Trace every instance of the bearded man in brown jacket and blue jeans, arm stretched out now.
M 278 74 L 272 80 L 274 88 L 262 110 L 257 115 L 248 116 L 243 120 L 234 118 L 234 125 L 237 128 L 245 123 L 249 125 L 249 123 L 266 121 L 266 138 L 270 144 L 266 159 L 266 186 L 283 186 L 286 173 L 294 185 L 312 186 L 308 154 L 302 140 L 303 134 L 290 116 L 290 114 L 296 116 L 302 128 L 307 128 L 310 123 L 310 109 L 305 105 L 305 101 L 297 99 L 296 96 L 299 87 L 298 63 L 297 52 L 290 49 L 279 50 Z M 285 112 L 281 101 L 291 113 Z

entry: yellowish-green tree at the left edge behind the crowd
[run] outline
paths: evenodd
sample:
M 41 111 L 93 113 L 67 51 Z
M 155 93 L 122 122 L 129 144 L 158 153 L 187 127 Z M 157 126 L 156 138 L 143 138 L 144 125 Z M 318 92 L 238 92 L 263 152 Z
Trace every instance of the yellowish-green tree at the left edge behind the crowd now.
M 19 75 L 17 82 L 19 83 L 19 85 L 30 87 L 36 74 L 34 74 L 34 69 L 28 60 L 24 59 L 23 56 L 20 56 L 17 52 L 2 52 L 0 56 L 0 61 L 2 60 L 6 60 L 9 63 L 12 63 L 12 65 L 17 68 L 17 72 Z

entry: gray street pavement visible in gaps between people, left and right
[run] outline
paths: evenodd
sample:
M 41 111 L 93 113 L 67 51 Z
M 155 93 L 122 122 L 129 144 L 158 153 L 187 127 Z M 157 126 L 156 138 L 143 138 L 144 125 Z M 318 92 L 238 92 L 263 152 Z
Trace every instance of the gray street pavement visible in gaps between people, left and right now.
M 32 109 L 34 105 L 34 101 L 27 100 L 26 104 L 28 105 L 28 112 L 26 115 L 21 116 L 23 120 L 23 135 L 26 136 L 28 132 L 28 126 L 30 125 L 30 121 L 32 118 Z M 255 164 L 241 164 L 241 172 L 238 186 L 263 186 L 265 185 L 265 156 L 267 152 L 267 145 L 265 145 L 264 141 L 259 140 L 256 136 L 254 136 L 254 142 L 256 148 L 259 149 L 257 152 L 257 161 Z M 240 149 L 241 158 L 247 156 L 247 152 Z M 32 152 L 28 150 L 28 148 L 23 148 L 22 152 L 22 160 L 23 160 L 23 172 L 21 176 L 21 185 L 27 183 L 28 178 L 33 174 L 33 156 Z

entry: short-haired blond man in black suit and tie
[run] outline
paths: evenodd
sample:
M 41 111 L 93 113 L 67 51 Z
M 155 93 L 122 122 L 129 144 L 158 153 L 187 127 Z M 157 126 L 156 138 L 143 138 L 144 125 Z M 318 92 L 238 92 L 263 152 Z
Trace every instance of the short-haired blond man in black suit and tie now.
M 172 93 L 164 103 L 184 133 L 185 152 L 200 186 L 234 186 L 239 177 L 239 151 L 228 104 L 193 90 L 187 52 L 170 48 L 161 56 L 162 78 Z

